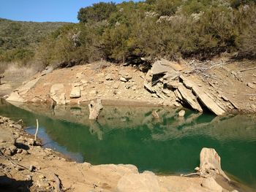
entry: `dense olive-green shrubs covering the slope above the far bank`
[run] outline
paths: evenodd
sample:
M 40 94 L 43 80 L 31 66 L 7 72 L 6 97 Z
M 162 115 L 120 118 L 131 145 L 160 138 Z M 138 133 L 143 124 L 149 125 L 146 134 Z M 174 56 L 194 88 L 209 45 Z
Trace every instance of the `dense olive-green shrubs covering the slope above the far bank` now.
M 81 8 L 80 23 L 53 31 L 35 55 L 31 49 L 24 55 L 34 55 L 42 66 L 135 63 L 142 57 L 203 60 L 225 52 L 256 58 L 255 15 L 255 0 L 100 2 Z

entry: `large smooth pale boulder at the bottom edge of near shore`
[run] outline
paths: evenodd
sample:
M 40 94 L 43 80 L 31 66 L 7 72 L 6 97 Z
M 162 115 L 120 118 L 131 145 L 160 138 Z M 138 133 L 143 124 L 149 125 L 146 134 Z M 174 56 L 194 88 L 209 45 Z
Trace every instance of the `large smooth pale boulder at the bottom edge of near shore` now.
M 125 174 L 118 181 L 118 192 L 158 192 L 160 191 L 157 176 L 153 172 Z

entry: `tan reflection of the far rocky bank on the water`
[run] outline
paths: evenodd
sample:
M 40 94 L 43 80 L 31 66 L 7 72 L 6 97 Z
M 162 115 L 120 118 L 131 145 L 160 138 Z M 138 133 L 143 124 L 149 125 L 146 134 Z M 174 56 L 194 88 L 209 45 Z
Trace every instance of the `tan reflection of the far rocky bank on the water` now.
M 6 103 L 5 103 L 6 104 Z M 256 139 L 255 115 L 214 115 L 187 111 L 184 118 L 178 118 L 178 109 L 159 107 L 108 107 L 99 115 L 98 124 L 92 124 L 88 107 L 55 107 L 53 116 L 47 105 L 27 104 L 24 110 L 46 115 L 50 118 L 67 120 L 89 126 L 99 138 L 116 128 L 148 128 L 152 139 L 168 140 L 193 135 L 208 135 L 214 139 Z M 151 113 L 157 110 L 159 120 Z

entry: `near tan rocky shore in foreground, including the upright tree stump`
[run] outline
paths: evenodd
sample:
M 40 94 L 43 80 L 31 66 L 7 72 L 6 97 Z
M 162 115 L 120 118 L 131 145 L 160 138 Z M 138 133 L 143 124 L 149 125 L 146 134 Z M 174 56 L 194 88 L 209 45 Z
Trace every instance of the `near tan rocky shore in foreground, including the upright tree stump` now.
M 139 173 L 133 165 L 92 166 L 67 161 L 39 146 L 38 141 L 35 146 L 20 123 L 22 120 L 15 123 L 0 117 L 1 191 L 236 191 L 214 149 L 203 148 L 200 153 L 200 177 L 158 176 Z M 220 183 L 218 177 L 223 178 Z

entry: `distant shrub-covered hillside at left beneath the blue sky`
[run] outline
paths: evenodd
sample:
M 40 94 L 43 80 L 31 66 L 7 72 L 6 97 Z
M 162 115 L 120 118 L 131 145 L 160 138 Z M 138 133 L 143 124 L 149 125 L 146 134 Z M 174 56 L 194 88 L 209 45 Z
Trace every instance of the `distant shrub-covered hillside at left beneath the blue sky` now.
M 64 22 L 24 22 L 0 18 L 0 61 L 22 61 L 34 56 L 35 47 Z

